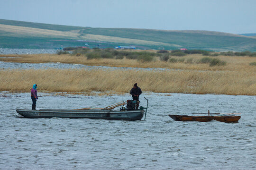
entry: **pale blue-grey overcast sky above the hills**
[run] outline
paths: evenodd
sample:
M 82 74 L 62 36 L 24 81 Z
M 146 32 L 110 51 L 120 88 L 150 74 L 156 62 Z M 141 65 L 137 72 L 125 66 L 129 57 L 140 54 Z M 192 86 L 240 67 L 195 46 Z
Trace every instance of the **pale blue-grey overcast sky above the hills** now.
M 256 33 L 256 0 L 0 0 L 0 19 L 247 34 Z

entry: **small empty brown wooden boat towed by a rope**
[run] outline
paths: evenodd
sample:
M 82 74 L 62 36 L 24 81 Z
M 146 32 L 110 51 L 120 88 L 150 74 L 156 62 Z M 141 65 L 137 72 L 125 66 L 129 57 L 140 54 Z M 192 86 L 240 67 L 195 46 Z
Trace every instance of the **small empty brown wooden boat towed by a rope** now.
M 176 121 L 200 121 L 200 122 L 208 122 L 211 120 L 217 120 L 220 122 L 233 123 L 238 122 L 241 116 L 187 116 L 187 115 L 168 115 L 172 119 Z

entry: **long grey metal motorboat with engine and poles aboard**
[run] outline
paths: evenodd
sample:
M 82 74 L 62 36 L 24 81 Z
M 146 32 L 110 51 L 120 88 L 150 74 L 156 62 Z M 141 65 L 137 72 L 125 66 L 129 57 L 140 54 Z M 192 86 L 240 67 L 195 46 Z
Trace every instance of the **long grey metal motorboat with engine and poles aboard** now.
M 145 98 L 145 97 L 144 97 Z M 145 98 L 146 99 L 146 98 Z M 147 106 L 148 106 L 148 99 Z M 124 107 L 123 105 L 127 105 Z M 17 113 L 25 118 L 90 118 L 90 119 L 123 119 L 123 120 L 140 120 L 143 118 L 145 113 L 146 119 L 146 108 L 140 106 L 138 110 L 137 101 L 118 102 L 107 106 L 102 109 L 73 109 L 73 110 L 52 110 L 52 109 L 40 109 L 40 110 L 25 110 L 16 109 Z M 122 106 L 120 110 L 113 110 L 116 107 Z M 137 106 L 137 107 L 136 107 Z M 144 110 L 146 109 L 146 110 Z

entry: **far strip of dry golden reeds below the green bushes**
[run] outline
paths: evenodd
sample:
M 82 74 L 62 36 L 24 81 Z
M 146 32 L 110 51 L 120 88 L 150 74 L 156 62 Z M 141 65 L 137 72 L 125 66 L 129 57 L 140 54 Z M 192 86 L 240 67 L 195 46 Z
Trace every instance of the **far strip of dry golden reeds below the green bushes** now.
M 218 56 L 211 58 L 218 58 L 227 62 L 226 66 L 209 67 L 209 64 L 196 64 L 196 63 L 170 63 L 160 61 L 156 57 L 155 61 L 141 63 L 135 59 L 87 59 L 85 56 L 72 56 L 72 55 L 56 55 L 56 54 L 9 54 L 0 55 L 0 57 L 13 57 L 13 58 L 0 58 L 4 62 L 20 62 L 20 63 L 48 63 L 48 62 L 61 62 L 73 64 L 85 64 L 95 66 L 110 66 L 110 67 L 136 67 L 136 68 L 178 68 L 189 70 L 247 70 L 256 71 L 255 66 L 249 66 L 249 63 L 256 62 L 255 57 L 235 57 L 235 56 Z M 176 59 L 193 59 L 194 61 L 201 59 L 201 54 L 187 55 L 185 57 L 173 57 Z

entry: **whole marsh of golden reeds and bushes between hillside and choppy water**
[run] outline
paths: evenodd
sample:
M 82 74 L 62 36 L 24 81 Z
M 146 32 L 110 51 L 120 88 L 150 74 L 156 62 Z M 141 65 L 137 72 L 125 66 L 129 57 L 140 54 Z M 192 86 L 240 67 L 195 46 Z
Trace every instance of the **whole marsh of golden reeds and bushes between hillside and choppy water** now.
M 3 62 L 60 62 L 123 68 L 168 68 L 164 71 L 0 69 L 0 91 L 27 92 L 31 84 L 37 83 L 40 85 L 39 89 L 45 92 L 127 93 L 133 83 L 137 82 L 144 91 L 151 92 L 256 95 L 256 57 L 230 56 L 224 53 L 213 56 L 216 52 L 210 52 L 211 55 L 206 56 L 203 55 L 204 51 L 177 55 L 181 52 L 185 53 L 79 48 L 74 49 L 72 54 L 0 55 Z

